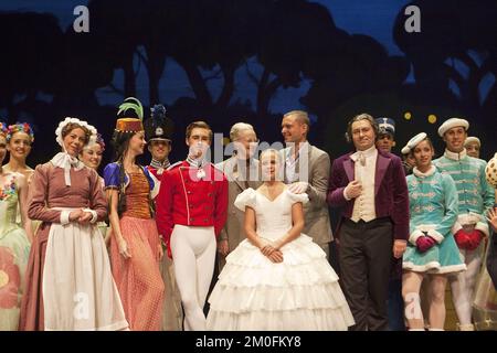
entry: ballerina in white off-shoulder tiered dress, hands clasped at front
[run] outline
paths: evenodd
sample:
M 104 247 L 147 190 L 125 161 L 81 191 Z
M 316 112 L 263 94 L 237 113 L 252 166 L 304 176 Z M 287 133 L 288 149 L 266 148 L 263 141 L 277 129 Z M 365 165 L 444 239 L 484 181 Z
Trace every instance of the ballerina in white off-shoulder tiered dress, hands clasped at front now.
M 325 252 L 300 233 L 308 196 L 277 180 L 279 158 L 264 151 L 266 181 L 236 197 L 247 239 L 226 257 L 209 298 L 208 330 L 331 331 L 355 323 Z

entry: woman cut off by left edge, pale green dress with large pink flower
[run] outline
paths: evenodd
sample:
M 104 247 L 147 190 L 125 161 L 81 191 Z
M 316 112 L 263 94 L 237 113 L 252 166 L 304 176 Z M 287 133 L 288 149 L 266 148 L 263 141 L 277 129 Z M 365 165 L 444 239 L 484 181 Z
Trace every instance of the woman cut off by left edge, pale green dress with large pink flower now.
M 0 122 L 0 331 L 17 331 L 30 242 L 15 215 L 20 205 L 21 225 L 28 223 L 28 186 L 23 174 L 1 167 L 7 133 L 7 127 Z

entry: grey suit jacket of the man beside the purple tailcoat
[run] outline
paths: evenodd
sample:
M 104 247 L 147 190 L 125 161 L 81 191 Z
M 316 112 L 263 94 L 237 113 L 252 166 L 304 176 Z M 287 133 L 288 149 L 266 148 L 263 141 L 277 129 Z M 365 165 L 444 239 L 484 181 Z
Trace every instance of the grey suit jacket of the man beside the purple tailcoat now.
M 286 164 L 289 148 L 283 149 L 282 153 Z M 307 164 L 305 164 L 306 162 Z M 310 143 L 307 143 L 300 151 L 299 162 L 296 163 L 295 168 L 298 180 L 309 183 L 309 188 L 306 191 L 309 195 L 309 202 L 304 205 L 304 233 L 319 245 L 332 240 L 328 204 L 326 202 L 330 169 L 331 163 L 328 153 Z M 289 182 L 285 168 L 285 183 Z

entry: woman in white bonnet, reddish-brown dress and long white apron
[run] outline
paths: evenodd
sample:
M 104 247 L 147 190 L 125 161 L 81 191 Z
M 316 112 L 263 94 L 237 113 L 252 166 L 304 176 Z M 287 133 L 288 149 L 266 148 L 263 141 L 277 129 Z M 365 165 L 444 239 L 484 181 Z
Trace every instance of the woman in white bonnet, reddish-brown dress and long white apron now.
M 95 170 L 77 156 L 96 130 L 66 118 L 55 130 L 62 152 L 34 171 L 28 215 L 43 223 L 31 247 L 21 330 L 124 330 L 128 323 L 96 226 L 107 203 Z

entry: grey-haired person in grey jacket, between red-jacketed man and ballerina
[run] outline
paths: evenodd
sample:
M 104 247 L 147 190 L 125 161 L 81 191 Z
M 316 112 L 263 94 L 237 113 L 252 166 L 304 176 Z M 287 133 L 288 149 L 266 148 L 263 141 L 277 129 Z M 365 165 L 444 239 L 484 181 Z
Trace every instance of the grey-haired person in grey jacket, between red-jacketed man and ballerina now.
M 228 254 L 246 238 L 243 226 L 244 213 L 234 206 L 234 201 L 244 190 L 248 188 L 255 190 L 261 185 L 258 161 L 254 159 L 258 142 L 254 128 L 250 124 L 236 122 L 230 130 L 230 139 L 234 145 L 233 157 L 215 164 L 226 175 L 229 182 L 228 220 L 218 240 L 220 271 Z

